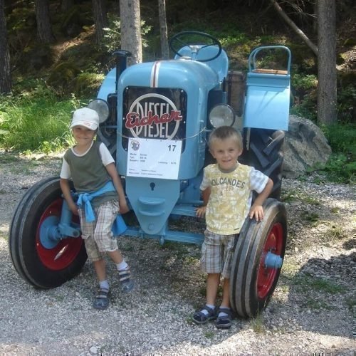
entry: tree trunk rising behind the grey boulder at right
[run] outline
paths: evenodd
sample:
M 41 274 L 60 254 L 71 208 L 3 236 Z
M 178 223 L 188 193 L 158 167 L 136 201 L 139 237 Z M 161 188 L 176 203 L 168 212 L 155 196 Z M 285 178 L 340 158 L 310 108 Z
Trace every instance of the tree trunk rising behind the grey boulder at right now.
M 335 0 L 318 0 L 318 123 L 337 121 Z

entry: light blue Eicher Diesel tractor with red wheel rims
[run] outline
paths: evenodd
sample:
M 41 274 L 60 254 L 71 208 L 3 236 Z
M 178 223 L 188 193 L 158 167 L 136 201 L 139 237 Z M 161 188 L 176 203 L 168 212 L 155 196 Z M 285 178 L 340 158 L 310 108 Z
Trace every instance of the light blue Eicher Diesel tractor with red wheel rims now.
M 213 162 L 206 147 L 209 133 L 219 125 L 234 125 L 244 137 L 241 161 L 274 182 L 265 218 L 246 219 L 232 263 L 232 308 L 242 318 L 252 317 L 271 298 L 286 248 L 286 209 L 279 198 L 290 51 L 284 46 L 256 48 L 245 75 L 229 70 L 221 43 L 207 33 L 177 33 L 169 45 L 173 59 L 130 67 L 130 53 L 115 52 L 116 68 L 88 105 L 99 113 L 98 140 L 116 157 L 129 214 L 135 217 L 123 216 L 125 236 L 161 244 L 202 243 L 203 231 L 172 231 L 169 221 L 195 216 L 202 203 L 202 172 Z M 278 53 L 278 61 L 269 60 L 271 52 Z M 78 219 L 61 196 L 59 177 L 43 179 L 23 195 L 11 222 L 9 250 L 16 271 L 36 288 L 60 286 L 80 272 L 87 256 Z

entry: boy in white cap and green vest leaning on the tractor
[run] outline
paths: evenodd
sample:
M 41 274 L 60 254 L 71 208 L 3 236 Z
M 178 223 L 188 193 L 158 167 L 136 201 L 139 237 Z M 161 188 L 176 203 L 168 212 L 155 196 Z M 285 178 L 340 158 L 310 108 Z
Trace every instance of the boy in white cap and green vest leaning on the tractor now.
M 133 282 L 111 230 L 117 213 L 126 213 L 129 208 L 112 155 L 102 142 L 94 141 L 98 126 L 99 116 L 95 110 L 75 110 L 70 128 L 76 145 L 63 157 L 60 184 L 69 209 L 79 215 L 82 239 L 99 281 L 93 307 L 103 310 L 110 303 L 106 253 L 117 266 L 122 291 L 132 290 Z M 79 194 L 77 203 L 70 193 L 68 179 L 73 180 Z

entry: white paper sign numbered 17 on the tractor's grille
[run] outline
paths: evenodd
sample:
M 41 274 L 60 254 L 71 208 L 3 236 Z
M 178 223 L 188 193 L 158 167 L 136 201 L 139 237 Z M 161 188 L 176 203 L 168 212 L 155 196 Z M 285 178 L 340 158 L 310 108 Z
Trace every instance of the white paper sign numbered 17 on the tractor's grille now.
M 178 179 L 182 141 L 130 138 L 127 176 Z

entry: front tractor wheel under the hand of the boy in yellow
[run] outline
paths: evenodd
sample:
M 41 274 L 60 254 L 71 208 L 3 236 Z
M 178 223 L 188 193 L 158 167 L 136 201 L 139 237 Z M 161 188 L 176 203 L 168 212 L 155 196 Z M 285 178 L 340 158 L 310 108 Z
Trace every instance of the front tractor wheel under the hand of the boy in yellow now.
M 268 305 L 281 268 L 266 267 L 266 255 L 283 258 L 286 250 L 285 206 L 267 199 L 263 209 L 263 221 L 246 219 L 231 263 L 231 308 L 242 318 L 255 317 Z

